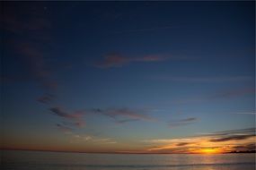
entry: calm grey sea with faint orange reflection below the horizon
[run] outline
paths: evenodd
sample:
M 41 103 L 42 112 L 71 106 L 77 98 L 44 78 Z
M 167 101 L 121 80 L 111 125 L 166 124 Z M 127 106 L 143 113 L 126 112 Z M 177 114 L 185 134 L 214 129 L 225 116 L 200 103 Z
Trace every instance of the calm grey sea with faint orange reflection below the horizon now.
M 1 151 L 4 170 L 254 170 L 254 154 L 137 155 Z M 4 168 L 3 168 L 4 167 Z

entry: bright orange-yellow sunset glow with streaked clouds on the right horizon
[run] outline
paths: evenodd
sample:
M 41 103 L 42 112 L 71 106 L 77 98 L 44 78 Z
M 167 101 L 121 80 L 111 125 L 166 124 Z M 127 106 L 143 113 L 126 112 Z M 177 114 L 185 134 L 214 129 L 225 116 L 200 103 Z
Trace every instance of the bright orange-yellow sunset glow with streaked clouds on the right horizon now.
M 152 140 L 149 153 L 223 154 L 235 151 L 237 147 L 246 149 L 253 145 L 254 136 L 244 140 L 212 141 L 211 137 L 192 137 L 185 139 Z M 157 145 L 155 147 L 155 145 Z

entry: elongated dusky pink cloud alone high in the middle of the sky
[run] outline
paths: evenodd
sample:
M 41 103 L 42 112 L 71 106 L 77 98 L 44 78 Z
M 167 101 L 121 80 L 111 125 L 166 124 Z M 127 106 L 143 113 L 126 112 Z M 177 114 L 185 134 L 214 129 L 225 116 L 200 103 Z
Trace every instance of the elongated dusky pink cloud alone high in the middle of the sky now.
M 135 63 L 135 62 L 162 62 L 168 60 L 172 57 L 163 55 L 145 55 L 141 57 L 127 57 L 118 53 L 110 53 L 103 55 L 103 60 L 94 64 L 99 68 L 110 68 L 110 67 L 121 67 L 125 64 Z

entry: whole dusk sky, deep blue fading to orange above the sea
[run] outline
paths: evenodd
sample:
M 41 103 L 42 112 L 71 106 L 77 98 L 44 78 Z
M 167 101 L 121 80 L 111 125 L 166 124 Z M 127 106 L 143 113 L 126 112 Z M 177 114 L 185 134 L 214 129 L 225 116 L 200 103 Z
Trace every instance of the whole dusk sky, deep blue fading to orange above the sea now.
M 255 149 L 255 2 L 1 8 L 2 149 Z

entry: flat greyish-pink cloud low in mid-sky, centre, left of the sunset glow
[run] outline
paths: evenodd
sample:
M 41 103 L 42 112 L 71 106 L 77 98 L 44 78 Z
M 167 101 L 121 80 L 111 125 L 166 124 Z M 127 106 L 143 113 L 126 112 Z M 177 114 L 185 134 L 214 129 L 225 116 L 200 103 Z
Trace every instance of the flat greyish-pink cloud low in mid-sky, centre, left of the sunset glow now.
M 143 112 L 143 111 L 140 111 Z M 148 115 L 140 114 L 139 111 L 130 110 L 128 108 L 110 108 L 110 109 L 93 109 L 93 113 L 95 114 L 101 114 L 109 116 L 115 120 L 118 120 L 118 117 L 128 117 L 133 120 L 142 120 L 142 121 L 155 121 L 155 119 Z M 119 120 L 122 121 L 122 120 Z M 123 120 L 124 122 L 128 122 L 126 120 Z

